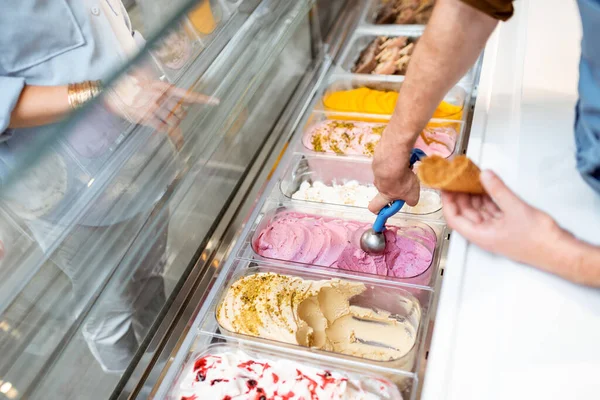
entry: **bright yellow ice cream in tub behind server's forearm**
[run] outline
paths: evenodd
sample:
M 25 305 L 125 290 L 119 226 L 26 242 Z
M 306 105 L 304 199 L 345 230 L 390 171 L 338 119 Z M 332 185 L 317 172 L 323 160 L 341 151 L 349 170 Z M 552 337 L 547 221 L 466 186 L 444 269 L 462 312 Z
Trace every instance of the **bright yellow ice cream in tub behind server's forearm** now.
M 332 92 L 323 98 L 323 104 L 329 111 L 380 115 L 393 114 L 397 101 L 398 92 L 375 90 L 366 87 Z M 462 106 L 442 101 L 437 110 L 435 110 L 433 118 L 460 120 L 462 118 Z M 353 119 L 356 120 L 357 118 Z M 358 120 L 373 121 L 372 118 L 358 118 Z

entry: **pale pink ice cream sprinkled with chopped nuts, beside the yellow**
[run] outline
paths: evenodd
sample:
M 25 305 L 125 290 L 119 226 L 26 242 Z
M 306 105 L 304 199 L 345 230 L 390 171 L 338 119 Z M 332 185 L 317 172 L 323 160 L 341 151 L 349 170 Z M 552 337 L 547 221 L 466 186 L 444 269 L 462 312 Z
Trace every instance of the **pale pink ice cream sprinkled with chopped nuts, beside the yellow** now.
M 454 152 L 458 138 L 456 125 L 428 125 L 417 138 L 415 147 L 427 155 L 449 157 Z M 310 127 L 302 143 L 316 152 L 373 157 L 385 127 L 383 123 L 326 120 Z

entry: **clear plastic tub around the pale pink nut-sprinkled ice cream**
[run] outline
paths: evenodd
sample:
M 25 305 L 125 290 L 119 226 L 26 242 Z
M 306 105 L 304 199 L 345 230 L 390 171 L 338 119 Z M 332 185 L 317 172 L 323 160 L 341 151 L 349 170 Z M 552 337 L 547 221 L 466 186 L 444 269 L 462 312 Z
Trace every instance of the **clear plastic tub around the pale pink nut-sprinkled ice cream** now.
M 323 146 L 322 151 L 313 150 L 314 146 L 311 146 L 313 139 L 313 130 L 318 129 L 322 126 L 325 121 L 339 121 L 340 123 L 366 123 L 370 126 L 379 127 L 379 130 L 389 122 L 389 116 L 377 116 L 374 114 L 357 114 L 357 113 L 338 113 L 338 112 L 323 112 L 323 111 L 315 111 L 308 118 L 306 125 L 302 129 L 302 133 L 299 134 L 300 138 L 298 139 L 299 144 L 296 147 L 296 151 L 302 154 L 309 155 L 324 155 L 324 156 L 333 156 L 333 157 L 350 157 L 357 160 L 369 160 L 374 154 L 375 146 L 377 144 L 378 137 L 374 136 L 366 136 L 361 139 L 363 142 L 361 143 L 363 146 L 362 153 L 356 151 L 357 147 L 355 145 L 355 141 L 353 140 L 348 148 L 342 149 L 342 151 L 338 151 L 337 153 L 331 150 L 330 146 Z M 453 120 L 443 120 L 443 119 L 432 119 L 431 122 L 426 127 L 425 137 L 423 135 L 417 140 L 416 147 L 425 151 L 426 154 L 429 155 L 439 155 L 446 158 L 452 158 L 457 154 L 457 151 L 462 147 L 463 136 L 464 136 L 464 126 L 465 124 L 459 121 Z M 436 130 L 441 130 L 442 132 L 446 132 L 448 135 L 448 140 L 446 141 L 430 141 L 431 132 L 435 132 Z M 367 145 L 367 142 L 371 142 L 372 144 Z M 429 143 L 428 143 L 429 142 Z M 369 147 L 370 146 L 370 147 Z M 341 148 L 341 146 L 340 146 Z

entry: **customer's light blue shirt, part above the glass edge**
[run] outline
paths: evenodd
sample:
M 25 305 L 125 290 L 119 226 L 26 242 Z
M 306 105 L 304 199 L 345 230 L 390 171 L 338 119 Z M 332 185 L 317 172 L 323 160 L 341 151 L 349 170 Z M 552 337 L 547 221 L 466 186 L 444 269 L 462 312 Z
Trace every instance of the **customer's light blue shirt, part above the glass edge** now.
M 19 0 L 2 8 L 0 132 L 25 82 L 50 86 L 106 79 L 125 61 L 99 1 L 106 0 Z

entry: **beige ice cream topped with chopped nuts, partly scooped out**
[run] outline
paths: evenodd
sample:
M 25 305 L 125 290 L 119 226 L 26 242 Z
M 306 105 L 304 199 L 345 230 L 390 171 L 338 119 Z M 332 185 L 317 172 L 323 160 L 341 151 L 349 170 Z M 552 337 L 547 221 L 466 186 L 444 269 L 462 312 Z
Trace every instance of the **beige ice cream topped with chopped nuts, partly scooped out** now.
M 350 304 L 366 290 L 360 282 L 257 273 L 229 288 L 217 320 L 231 332 L 376 361 L 397 360 L 412 349 L 416 327 L 385 310 Z

